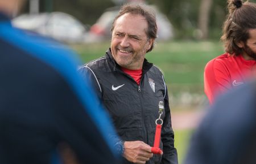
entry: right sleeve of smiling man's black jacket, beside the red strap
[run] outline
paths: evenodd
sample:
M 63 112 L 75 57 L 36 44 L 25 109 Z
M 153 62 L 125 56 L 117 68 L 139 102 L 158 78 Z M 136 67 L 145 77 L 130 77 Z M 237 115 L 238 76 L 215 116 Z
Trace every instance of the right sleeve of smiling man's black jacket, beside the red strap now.
M 163 142 L 162 164 L 177 164 L 177 150 L 174 147 L 174 131 L 171 125 L 171 111 L 169 106 L 168 92 L 166 88 L 166 96 L 164 97 L 164 107 L 166 116 L 163 120 L 161 139 Z

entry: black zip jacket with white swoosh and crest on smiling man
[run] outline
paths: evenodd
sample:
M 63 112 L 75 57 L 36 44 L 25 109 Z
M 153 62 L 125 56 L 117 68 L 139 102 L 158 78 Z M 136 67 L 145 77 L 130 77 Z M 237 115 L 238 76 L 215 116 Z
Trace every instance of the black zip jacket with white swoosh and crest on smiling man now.
M 105 57 L 82 66 L 79 70 L 92 80 L 98 96 L 113 118 L 115 128 L 123 141 L 140 140 L 153 146 L 155 120 L 159 117 L 159 101 L 164 102 L 163 127 L 160 148 L 163 156 L 154 155 L 147 163 L 177 163 L 174 132 L 167 87 L 162 72 L 144 60 L 141 84 L 125 74 L 114 61 L 110 49 Z M 123 163 L 130 163 L 125 159 Z

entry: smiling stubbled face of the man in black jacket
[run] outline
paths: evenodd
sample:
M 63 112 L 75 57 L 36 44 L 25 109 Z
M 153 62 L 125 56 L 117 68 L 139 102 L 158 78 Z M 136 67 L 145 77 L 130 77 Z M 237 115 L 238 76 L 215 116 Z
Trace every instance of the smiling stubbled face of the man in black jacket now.
M 153 39 L 148 39 L 147 21 L 141 15 L 124 14 L 114 24 L 111 51 L 119 66 L 139 70 Z

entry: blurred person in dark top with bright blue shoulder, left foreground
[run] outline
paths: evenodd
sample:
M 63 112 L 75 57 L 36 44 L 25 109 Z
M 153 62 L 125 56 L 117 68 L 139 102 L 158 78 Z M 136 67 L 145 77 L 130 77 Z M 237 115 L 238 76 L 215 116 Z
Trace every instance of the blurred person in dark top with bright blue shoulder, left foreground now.
M 12 27 L 0 0 L 0 163 L 118 163 L 109 116 L 65 46 Z

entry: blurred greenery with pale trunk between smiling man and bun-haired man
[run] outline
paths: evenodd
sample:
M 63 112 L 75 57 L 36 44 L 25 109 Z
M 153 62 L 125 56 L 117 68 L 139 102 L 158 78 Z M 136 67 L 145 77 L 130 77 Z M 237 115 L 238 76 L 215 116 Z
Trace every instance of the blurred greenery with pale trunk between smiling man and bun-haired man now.
M 256 0 L 251 0 L 256 1 Z M 219 39 L 226 0 L 147 0 L 167 15 L 179 39 Z

